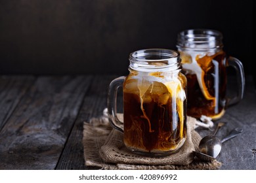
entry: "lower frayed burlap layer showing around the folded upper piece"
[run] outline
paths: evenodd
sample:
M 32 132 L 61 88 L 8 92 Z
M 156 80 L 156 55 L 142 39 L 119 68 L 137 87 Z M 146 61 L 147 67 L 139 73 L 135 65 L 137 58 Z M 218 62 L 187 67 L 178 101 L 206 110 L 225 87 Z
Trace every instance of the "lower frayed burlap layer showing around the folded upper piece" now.
M 198 169 L 220 169 L 221 162 L 214 160 L 211 162 L 200 161 L 194 159 L 188 165 L 137 165 L 123 163 L 106 163 L 100 158 L 100 148 L 106 142 L 108 135 L 112 131 L 112 127 L 108 124 L 108 119 L 102 116 L 100 118 L 92 118 L 89 123 L 83 125 L 83 150 L 85 157 L 85 165 L 88 167 L 98 167 L 98 169 L 108 170 L 198 170 Z M 192 138 L 199 142 L 200 135 L 196 131 L 192 131 Z

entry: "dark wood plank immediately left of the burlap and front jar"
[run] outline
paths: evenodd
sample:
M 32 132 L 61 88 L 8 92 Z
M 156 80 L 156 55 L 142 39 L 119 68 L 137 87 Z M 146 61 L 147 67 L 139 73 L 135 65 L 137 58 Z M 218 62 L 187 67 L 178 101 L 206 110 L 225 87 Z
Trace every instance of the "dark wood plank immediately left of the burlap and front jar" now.
M 96 76 L 83 101 L 72 133 L 56 169 L 86 169 L 83 157 L 83 122 L 102 115 L 106 107 L 108 85 L 115 76 Z

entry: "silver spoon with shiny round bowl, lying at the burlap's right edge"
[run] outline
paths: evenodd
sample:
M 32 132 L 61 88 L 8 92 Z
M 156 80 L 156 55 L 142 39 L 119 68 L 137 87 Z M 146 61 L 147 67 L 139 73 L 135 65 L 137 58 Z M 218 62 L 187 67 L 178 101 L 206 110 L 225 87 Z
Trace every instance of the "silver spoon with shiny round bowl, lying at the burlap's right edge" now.
M 214 135 L 203 137 L 199 144 L 200 152 L 194 151 L 194 154 L 203 161 L 213 161 L 221 152 L 222 143 L 236 137 L 238 134 L 242 133 L 242 131 L 242 128 L 237 127 L 230 131 L 222 140 Z

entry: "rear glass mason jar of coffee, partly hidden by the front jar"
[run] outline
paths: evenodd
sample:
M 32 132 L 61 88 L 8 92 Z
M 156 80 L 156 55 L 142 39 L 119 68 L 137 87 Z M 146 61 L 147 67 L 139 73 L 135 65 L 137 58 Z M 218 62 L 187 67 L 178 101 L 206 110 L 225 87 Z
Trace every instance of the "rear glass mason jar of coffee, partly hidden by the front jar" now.
M 238 59 L 226 56 L 222 39 L 221 32 L 211 29 L 188 29 L 178 34 L 182 73 L 188 80 L 188 116 L 204 115 L 217 120 L 226 107 L 244 96 L 243 65 Z M 238 95 L 232 98 L 226 97 L 227 67 L 234 67 L 237 75 Z

